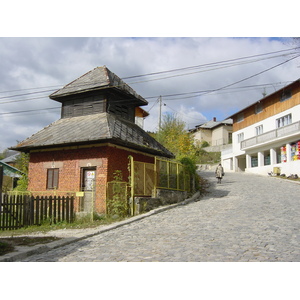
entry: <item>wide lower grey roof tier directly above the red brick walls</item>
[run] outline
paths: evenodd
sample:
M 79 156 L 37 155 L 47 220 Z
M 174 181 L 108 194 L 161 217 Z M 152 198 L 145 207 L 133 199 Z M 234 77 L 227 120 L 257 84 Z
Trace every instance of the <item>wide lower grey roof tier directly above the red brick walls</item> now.
M 104 142 L 174 157 L 138 125 L 108 113 L 59 119 L 11 149 L 27 152 L 38 148 Z

